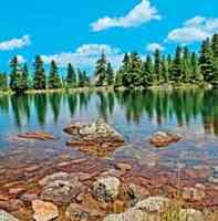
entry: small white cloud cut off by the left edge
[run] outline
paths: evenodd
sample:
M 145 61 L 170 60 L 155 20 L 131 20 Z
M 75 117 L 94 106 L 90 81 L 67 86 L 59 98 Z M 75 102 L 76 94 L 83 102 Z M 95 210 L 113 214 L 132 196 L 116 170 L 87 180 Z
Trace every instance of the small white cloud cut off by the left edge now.
M 11 51 L 14 49 L 22 49 L 31 44 L 29 35 L 23 35 L 20 39 L 11 39 L 4 42 L 0 42 L 0 51 Z

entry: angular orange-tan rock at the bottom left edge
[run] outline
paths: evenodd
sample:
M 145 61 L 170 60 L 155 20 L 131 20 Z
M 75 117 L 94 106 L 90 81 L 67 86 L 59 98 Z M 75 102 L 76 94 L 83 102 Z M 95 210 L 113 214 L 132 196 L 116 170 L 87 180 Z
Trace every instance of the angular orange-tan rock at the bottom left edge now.
M 32 209 L 35 221 L 50 221 L 59 217 L 58 207 L 51 202 L 34 200 L 32 201 Z

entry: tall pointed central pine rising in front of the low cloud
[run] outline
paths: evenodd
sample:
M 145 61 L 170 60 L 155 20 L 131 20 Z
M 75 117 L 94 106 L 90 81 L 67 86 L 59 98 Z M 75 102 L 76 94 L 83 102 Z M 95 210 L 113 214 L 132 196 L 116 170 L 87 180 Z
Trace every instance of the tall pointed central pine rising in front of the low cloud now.
M 95 67 L 96 86 L 104 86 L 106 84 L 106 55 L 103 52 Z

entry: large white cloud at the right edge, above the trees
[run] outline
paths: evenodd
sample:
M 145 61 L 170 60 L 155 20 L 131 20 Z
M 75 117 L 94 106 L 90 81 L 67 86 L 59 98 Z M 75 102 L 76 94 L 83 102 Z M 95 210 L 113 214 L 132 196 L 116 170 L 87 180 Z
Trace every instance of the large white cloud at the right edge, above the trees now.
M 179 43 L 203 41 L 215 32 L 218 32 L 218 18 L 194 17 L 187 20 L 181 28 L 170 31 L 167 41 Z

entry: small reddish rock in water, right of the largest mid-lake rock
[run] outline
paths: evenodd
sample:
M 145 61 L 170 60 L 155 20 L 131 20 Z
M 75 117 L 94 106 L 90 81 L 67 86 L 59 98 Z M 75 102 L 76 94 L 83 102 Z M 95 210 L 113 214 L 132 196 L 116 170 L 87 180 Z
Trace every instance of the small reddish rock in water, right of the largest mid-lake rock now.
M 153 135 L 149 143 L 155 147 L 166 147 L 173 143 L 179 141 L 181 137 L 176 134 L 157 131 Z

